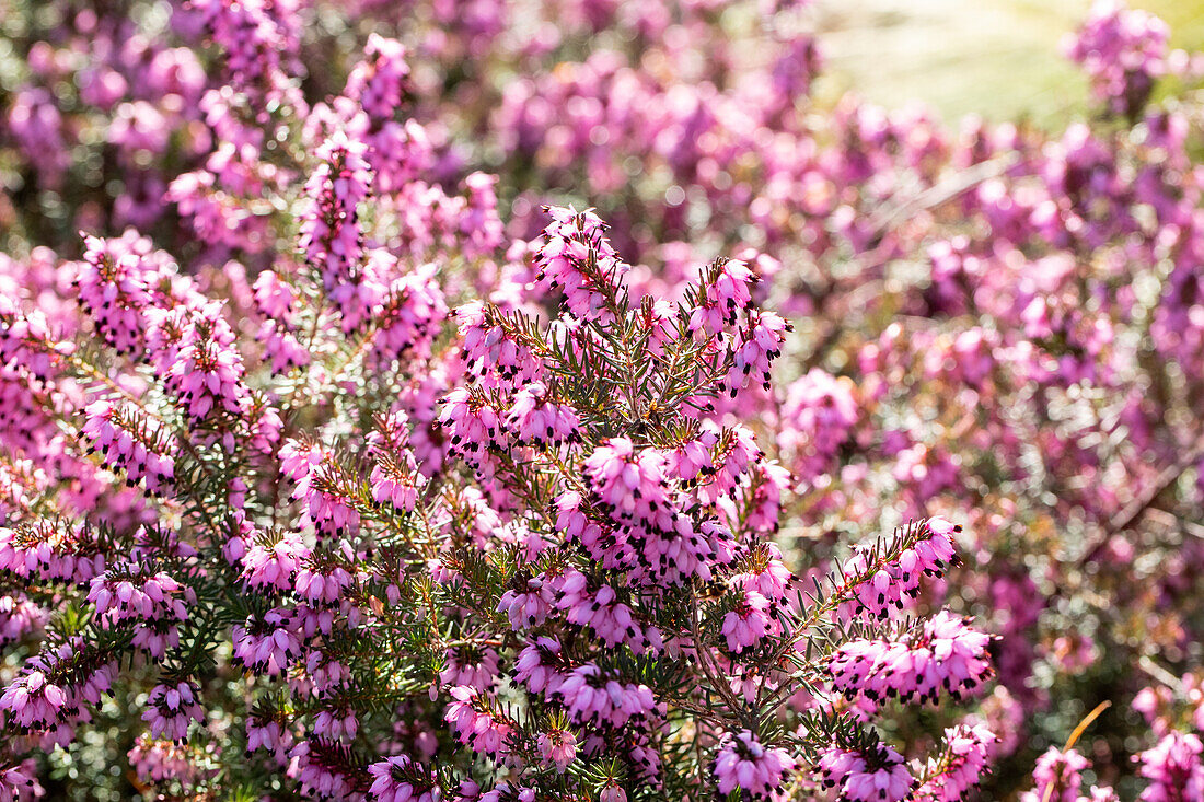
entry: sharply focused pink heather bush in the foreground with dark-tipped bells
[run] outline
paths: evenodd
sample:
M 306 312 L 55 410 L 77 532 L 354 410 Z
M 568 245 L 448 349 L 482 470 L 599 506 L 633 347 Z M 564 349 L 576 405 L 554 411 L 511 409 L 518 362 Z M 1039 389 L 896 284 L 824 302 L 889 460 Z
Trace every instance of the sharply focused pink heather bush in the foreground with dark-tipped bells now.
M 714 414 L 771 384 L 789 330 L 752 273 L 637 305 L 602 222 L 550 208 L 530 288 L 559 312 L 473 301 L 452 338 L 454 282 L 370 247 L 364 152 L 315 149 L 301 258 L 243 293 L 92 237 L 64 270 L 93 342 L 6 316 L 13 381 L 78 432 L 64 459 L 138 491 L 132 520 L 54 477 L 8 511 L 14 592 L 54 608 L 0 697 L 11 759 L 116 697 L 147 726 L 137 780 L 185 796 L 784 797 L 809 763 L 848 798 L 939 788 L 946 760 L 913 776 L 866 724 L 991 674 L 987 636 L 901 613 L 955 526 L 799 586 L 765 538 L 774 466 Z M 240 295 L 272 325 L 240 336 Z M 39 789 L 28 761 L 8 778 Z

